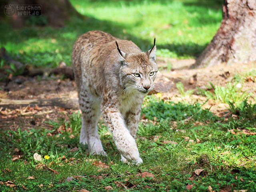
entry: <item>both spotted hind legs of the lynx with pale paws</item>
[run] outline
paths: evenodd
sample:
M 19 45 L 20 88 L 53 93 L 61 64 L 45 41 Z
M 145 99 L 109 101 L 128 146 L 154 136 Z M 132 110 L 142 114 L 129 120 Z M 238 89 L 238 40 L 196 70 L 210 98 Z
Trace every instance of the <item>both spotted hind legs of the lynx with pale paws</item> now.
M 100 116 L 100 102 L 88 92 L 80 94 L 79 104 L 82 111 L 82 127 L 80 143 L 87 144 L 91 154 L 106 155 L 98 135 L 98 118 Z

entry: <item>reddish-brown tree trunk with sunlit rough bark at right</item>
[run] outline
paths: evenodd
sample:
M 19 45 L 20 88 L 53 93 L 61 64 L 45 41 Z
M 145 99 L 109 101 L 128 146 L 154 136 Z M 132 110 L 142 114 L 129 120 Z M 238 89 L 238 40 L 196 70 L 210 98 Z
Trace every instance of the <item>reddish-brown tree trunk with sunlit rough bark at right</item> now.
M 256 60 L 256 0 L 224 0 L 220 28 L 196 66 Z

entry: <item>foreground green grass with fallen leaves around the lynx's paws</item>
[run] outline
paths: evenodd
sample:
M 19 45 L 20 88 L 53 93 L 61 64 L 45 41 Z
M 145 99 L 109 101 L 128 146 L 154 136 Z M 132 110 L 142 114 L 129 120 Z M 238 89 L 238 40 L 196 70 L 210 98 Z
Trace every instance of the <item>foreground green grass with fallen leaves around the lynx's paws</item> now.
M 120 162 L 120 154 L 102 122 L 99 132 L 108 156 L 89 155 L 87 147 L 78 144 L 79 114 L 72 114 L 69 122 L 48 122 L 54 126 L 52 130 L 10 130 L 0 134 L 0 170 L 11 170 L 0 172 L 0 181 L 14 182 L 19 191 L 22 191 L 23 184 L 27 191 L 75 191 L 84 188 L 96 192 L 106 191 L 104 187 L 111 186 L 110 191 L 128 188 L 129 191 L 180 192 L 186 190 L 188 184 L 193 184 L 191 191 L 197 192 L 207 191 L 208 186 L 219 191 L 228 185 L 232 191 L 247 189 L 254 192 L 256 140 L 254 135 L 244 134 L 242 130 L 256 132 L 256 105 L 244 102 L 237 108 L 230 106 L 230 112 L 237 117 L 230 115 L 225 120 L 202 110 L 200 104 L 173 103 L 148 96 L 142 105 L 144 120 L 140 122 L 137 134 L 138 148 L 144 161 L 139 166 Z M 66 129 L 59 133 L 56 129 L 61 125 Z M 71 130 L 74 137 L 70 136 Z M 228 130 L 234 130 L 236 134 Z M 74 147 L 78 150 L 70 152 Z M 12 155 L 17 155 L 15 148 L 20 150 L 22 157 L 12 161 Z M 59 174 L 36 169 L 38 162 L 33 158 L 36 152 L 42 157 L 50 156 L 42 163 Z M 63 155 L 66 159 L 74 159 L 66 162 L 58 159 Z M 93 165 L 96 160 L 109 167 Z M 204 169 L 199 176 L 193 174 L 198 168 Z M 154 178 L 142 178 L 141 172 L 151 172 Z M 28 176 L 34 176 L 34 179 L 29 180 Z M 73 179 L 67 181 L 70 177 Z M 189 180 L 191 177 L 193 180 Z M 131 186 L 134 187 L 129 188 Z M 0 187 L 4 191 L 12 190 L 8 186 Z

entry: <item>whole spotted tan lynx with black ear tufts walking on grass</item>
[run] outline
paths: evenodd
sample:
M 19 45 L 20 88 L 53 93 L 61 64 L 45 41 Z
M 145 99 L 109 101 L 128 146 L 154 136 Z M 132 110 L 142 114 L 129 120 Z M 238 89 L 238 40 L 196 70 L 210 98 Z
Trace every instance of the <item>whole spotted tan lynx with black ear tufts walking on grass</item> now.
M 80 143 L 106 155 L 98 135 L 100 112 L 122 162 L 142 163 L 135 138 L 142 100 L 154 88 L 156 45 L 148 52 L 128 40 L 89 31 L 73 47 L 72 66 L 82 111 Z

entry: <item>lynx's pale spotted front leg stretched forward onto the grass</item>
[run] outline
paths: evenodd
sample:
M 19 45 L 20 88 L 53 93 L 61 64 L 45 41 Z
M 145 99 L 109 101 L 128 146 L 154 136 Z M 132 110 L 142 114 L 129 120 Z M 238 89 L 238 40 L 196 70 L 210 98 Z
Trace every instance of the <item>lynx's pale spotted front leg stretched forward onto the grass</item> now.
M 102 106 L 102 114 L 108 128 L 112 132 L 116 147 L 121 155 L 132 163 L 142 163 L 135 139 L 126 128 L 119 110 L 106 105 Z

